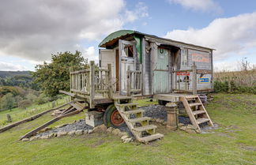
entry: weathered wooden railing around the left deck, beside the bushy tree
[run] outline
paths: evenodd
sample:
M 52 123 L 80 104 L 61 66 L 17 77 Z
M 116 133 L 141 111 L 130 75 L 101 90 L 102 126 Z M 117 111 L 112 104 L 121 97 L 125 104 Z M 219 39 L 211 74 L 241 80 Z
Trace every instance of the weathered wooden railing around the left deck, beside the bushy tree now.
M 107 69 L 100 69 L 92 61 L 89 69 L 70 71 L 70 91 L 85 96 L 91 108 L 96 94 L 107 94 L 107 98 L 111 98 L 111 64 L 107 64 Z

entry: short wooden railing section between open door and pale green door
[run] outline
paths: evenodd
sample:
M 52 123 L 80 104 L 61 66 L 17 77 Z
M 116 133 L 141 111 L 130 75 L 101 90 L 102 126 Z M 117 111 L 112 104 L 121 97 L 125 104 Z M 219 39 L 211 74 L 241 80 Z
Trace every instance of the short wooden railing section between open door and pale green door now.
M 126 71 L 126 92 L 127 96 L 132 94 L 141 94 L 142 92 L 142 72 L 141 70 L 130 70 Z

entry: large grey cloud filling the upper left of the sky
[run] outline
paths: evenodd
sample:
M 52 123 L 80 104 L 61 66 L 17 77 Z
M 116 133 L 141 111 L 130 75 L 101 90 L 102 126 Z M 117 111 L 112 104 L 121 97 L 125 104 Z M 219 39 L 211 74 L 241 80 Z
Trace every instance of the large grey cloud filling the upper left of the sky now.
M 75 51 L 77 44 L 98 42 L 148 14 L 144 3 L 127 10 L 124 0 L 3 1 L 0 52 L 42 62 L 51 54 Z

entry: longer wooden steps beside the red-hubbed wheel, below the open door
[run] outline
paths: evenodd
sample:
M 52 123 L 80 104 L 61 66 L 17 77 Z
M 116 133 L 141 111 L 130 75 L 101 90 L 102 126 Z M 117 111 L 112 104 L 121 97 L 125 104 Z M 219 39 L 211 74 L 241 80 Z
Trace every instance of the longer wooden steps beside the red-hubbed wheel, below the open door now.
M 127 99 L 128 103 L 122 103 L 122 99 Z M 137 141 L 141 141 L 142 143 L 149 143 L 149 141 L 154 141 L 156 139 L 163 138 L 164 135 L 160 133 L 156 133 L 157 126 L 149 125 L 149 120 L 151 118 L 144 117 L 144 110 L 137 109 L 137 103 L 132 103 L 130 97 L 120 97 L 115 98 L 115 107 L 119 111 L 123 120 L 126 122 L 126 125 L 130 129 L 131 133 L 134 134 L 134 137 Z M 132 118 L 130 118 L 130 114 Z

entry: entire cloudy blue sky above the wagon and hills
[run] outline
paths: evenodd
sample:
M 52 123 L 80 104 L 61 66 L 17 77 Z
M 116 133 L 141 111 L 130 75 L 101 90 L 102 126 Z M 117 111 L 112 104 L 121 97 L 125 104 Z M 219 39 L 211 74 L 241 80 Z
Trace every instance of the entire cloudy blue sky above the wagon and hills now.
M 81 51 L 132 29 L 216 49 L 215 70 L 256 65 L 255 0 L 0 0 L 0 70 L 35 70 L 51 54 Z

